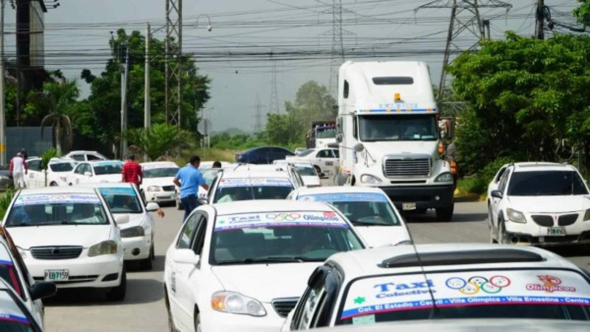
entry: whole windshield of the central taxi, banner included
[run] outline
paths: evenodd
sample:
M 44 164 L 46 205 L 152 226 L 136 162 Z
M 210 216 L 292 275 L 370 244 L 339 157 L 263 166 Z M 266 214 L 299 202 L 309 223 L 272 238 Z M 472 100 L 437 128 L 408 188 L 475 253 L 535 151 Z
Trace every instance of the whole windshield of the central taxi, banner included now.
M 336 212 L 260 212 L 217 217 L 211 264 L 324 261 L 363 249 Z

